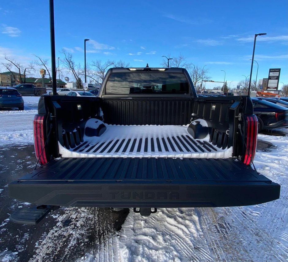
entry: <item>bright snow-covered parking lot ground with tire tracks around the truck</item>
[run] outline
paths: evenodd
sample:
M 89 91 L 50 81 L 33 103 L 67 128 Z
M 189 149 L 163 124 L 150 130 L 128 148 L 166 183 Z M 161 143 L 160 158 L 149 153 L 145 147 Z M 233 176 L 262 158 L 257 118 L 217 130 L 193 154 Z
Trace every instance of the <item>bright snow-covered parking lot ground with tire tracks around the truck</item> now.
M 22 112 L 0 111 L 1 145 L 33 143 L 32 119 L 38 99 L 24 97 Z M 120 232 L 107 230 L 110 225 L 105 224 L 105 217 L 99 220 L 97 209 L 66 208 L 37 241 L 35 256 L 27 260 L 52 261 L 64 244 L 68 254 L 75 243 L 85 243 L 92 228 L 100 235 L 103 232 L 103 237 L 74 261 L 287 261 L 288 129 L 281 131 L 287 135 L 258 136 L 274 147 L 258 151 L 254 160 L 260 173 L 281 185 L 280 199 L 243 207 L 158 209 L 149 217 L 131 210 Z M 67 226 L 68 218 L 72 222 Z M 5 257 L 2 261 L 14 261 L 17 253 L 11 250 Z

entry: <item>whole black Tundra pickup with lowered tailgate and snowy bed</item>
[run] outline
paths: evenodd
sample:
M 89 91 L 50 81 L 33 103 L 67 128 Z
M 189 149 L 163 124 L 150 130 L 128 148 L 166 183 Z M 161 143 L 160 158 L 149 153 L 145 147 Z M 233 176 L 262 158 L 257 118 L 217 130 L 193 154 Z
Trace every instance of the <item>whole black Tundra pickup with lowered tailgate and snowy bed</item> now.
M 111 68 L 97 97 L 40 98 L 41 166 L 9 184 L 40 207 L 10 219 L 37 223 L 59 206 L 150 215 L 278 199 L 280 186 L 251 167 L 257 126 L 250 97 L 198 98 L 183 68 Z

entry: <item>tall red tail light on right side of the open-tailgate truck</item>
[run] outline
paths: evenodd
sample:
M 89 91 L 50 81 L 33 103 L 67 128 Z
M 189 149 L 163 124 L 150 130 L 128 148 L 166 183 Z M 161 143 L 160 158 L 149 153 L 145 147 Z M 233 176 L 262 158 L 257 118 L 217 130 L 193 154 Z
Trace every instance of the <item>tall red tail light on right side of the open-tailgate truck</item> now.
M 257 135 L 258 135 L 258 119 L 256 115 L 246 117 L 246 152 L 244 163 L 249 165 L 253 161 L 256 154 Z

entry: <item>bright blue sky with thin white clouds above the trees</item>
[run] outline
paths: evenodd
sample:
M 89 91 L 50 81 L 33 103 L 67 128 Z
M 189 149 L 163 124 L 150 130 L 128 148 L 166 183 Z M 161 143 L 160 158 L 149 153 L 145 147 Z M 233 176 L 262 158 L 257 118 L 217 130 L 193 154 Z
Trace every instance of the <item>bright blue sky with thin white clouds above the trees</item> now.
M 131 66 L 160 67 L 162 55 L 179 56 L 210 69 L 214 81 L 237 85 L 250 74 L 258 79 L 281 68 L 288 83 L 288 1 L 56 1 L 56 57 L 62 48 L 84 65 L 86 60 L 123 60 Z M 49 1 L 17 0 L 0 4 L 0 63 L 3 54 L 17 61 L 50 57 Z M 0 65 L 1 71 L 5 71 Z M 252 79 L 256 78 L 254 63 Z M 208 86 L 217 84 L 207 84 Z M 282 83 L 280 86 L 282 87 Z

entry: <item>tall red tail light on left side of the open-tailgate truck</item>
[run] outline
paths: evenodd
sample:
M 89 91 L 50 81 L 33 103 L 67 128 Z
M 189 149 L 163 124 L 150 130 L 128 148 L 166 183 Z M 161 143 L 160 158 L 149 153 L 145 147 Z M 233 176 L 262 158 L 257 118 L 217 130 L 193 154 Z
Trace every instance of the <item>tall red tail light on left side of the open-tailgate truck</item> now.
M 36 158 L 39 160 L 41 165 L 47 163 L 46 152 L 45 152 L 45 140 L 43 130 L 44 116 L 35 115 L 33 119 L 33 134 L 34 134 L 34 147 Z M 43 151 L 43 152 L 42 152 Z

